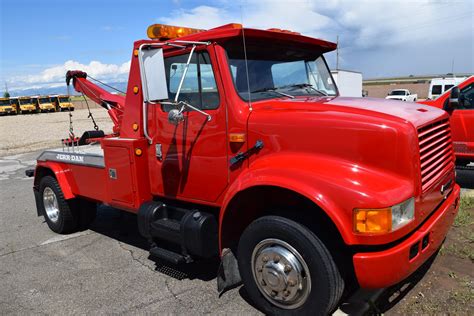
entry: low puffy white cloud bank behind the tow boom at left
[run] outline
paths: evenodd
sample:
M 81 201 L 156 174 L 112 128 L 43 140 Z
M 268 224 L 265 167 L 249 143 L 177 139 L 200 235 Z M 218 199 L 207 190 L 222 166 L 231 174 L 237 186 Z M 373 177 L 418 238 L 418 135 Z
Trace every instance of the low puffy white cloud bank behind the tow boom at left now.
M 130 61 L 117 65 L 104 64 L 100 61 L 82 64 L 74 60 L 68 60 L 62 65 L 46 68 L 39 74 L 13 77 L 8 80 L 8 84 L 12 90 L 57 87 L 65 84 L 65 76 L 68 70 L 82 70 L 96 79 L 123 82 L 128 78 Z

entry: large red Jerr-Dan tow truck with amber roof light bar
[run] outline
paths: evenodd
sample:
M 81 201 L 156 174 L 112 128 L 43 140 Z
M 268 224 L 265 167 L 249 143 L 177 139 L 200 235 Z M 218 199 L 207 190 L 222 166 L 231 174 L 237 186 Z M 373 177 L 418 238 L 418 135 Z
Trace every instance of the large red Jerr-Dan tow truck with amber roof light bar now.
M 148 36 L 125 96 L 66 75 L 114 128 L 38 157 L 53 231 L 86 228 L 97 204 L 136 213 L 151 255 L 220 256 L 219 291 L 243 282 L 268 314 L 327 314 L 440 248 L 460 194 L 445 111 L 338 97 L 323 56 L 336 44 L 299 33 L 155 24 Z

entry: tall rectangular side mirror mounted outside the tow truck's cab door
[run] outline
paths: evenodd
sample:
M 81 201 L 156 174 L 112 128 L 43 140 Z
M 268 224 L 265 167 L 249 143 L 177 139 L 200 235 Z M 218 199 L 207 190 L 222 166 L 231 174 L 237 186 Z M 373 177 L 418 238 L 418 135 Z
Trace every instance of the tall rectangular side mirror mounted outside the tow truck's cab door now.
M 168 99 L 163 49 L 140 47 L 140 77 L 145 102 Z

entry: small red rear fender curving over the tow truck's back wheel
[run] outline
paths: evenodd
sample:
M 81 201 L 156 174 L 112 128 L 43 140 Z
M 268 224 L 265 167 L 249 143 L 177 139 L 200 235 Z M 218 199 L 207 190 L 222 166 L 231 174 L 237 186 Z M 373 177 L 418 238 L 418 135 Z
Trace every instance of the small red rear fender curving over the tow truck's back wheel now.
M 72 185 L 73 180 L 70 176 L 71 170 L 67 167 L 63 167 L 61 164 L 51 161 L 38 161 L 35 169 L 34 186 L 36 189 L 39 188 L 41 178 L 45 175 L 54 174 L 56 180 L 63 191 L 64 198 L 66 200 L 73 199 L 76 195 L 73 193 Z

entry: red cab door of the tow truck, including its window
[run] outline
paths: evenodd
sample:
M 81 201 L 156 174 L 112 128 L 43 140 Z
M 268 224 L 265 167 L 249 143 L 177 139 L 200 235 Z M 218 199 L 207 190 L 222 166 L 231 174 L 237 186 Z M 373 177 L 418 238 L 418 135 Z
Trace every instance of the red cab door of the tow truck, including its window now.
M 168 95 L 174 99 L 189 52 L 165 58 Z M 210 114 L 188 110 L 184 121 L 168 121 L 170 105 L 149 107 L 152 194 L 212 202 L 228 183 L 226 103 L 213 50 L 196 51 L 191 59 L 179 100 Z

